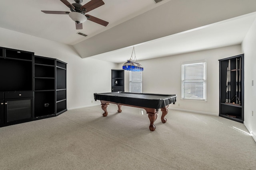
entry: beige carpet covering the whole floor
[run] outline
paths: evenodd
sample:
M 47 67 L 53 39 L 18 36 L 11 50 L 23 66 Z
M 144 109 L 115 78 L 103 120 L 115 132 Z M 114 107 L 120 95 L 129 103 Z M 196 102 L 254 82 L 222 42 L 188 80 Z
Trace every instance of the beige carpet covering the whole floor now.
M 255 170 L 256 143 L 242 123 L 169 110 L 148 129 L 143 109 L 100 106 L 0 128 L 1 170 Z M 143 113 L 143 114 L 142 114 Z

